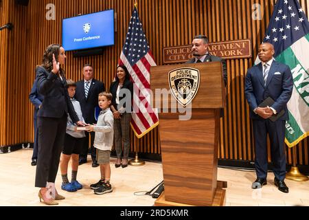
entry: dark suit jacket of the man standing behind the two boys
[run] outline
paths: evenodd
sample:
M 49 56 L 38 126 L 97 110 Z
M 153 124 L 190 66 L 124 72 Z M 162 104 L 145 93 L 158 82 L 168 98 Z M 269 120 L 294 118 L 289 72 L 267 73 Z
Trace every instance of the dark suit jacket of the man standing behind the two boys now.
M 95 120 L 95 107 L 99 108 L 98 97 L 102 91 L 105 91 L 104 83 L 93 78 L 86 99 L 84 95 L 84 80 L 80 80 L 76 83 L 75 98 L 80 102 L 82 117 L 88 124 L 97 122 Z

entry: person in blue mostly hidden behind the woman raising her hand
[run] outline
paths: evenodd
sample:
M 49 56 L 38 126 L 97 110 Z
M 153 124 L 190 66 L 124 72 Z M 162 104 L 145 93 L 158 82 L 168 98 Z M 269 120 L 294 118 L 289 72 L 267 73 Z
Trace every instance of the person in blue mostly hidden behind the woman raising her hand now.
M 32 161 L 31 165 L 36 166 L 36 161 L 38 159 L 38 126 L 37 122 L 37 114 L 38 109 L 41 107 L 44 96 L 38 93 L 37 80 L 34 80 L 32 85 L 31 92 L 29 94 L 29 99 L 32 104 L 34 104 L 34 114 L 33 114 L 33 122 L 34 122 L 34 144 L 33 144 L 33 153 L 32 153 Z

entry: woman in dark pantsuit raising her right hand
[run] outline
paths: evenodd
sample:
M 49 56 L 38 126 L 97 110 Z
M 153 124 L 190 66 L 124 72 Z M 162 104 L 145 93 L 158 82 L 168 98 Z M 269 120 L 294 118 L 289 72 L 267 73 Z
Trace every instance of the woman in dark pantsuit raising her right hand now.
M 65 49 L 49 45 L 43 55 L 42 64 L 36 67 L 38 92 L 44 96 L 38 110 L 38 161 L 36 164 L 35 186 L 40 187 L 38 197 L 47 205 L 57 205 L 55 200 L 65 199 L 55 188 L 60 153 L 65 140 L 67 114 L 80 126 L 65 86 Z

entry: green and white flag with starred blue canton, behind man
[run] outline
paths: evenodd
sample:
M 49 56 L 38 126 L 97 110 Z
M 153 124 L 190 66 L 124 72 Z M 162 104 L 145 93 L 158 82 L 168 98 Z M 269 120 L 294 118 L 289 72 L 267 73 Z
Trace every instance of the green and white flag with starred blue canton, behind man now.
M 292 147 L 309 135 L 309 22 L 297 0 L 277 1 L 263 42 L 274 45 L 275 60 L 293 74 L 285 139 Z

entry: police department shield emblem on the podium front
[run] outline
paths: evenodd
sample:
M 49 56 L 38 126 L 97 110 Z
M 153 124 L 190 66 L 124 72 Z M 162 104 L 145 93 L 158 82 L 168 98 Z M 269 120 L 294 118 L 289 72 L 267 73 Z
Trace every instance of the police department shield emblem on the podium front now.
M 179 68 L 168 72 L 168 82 L 174 98 L 186 107 L 192 102 L 200 86 L 200 72 L 194 68 Z

